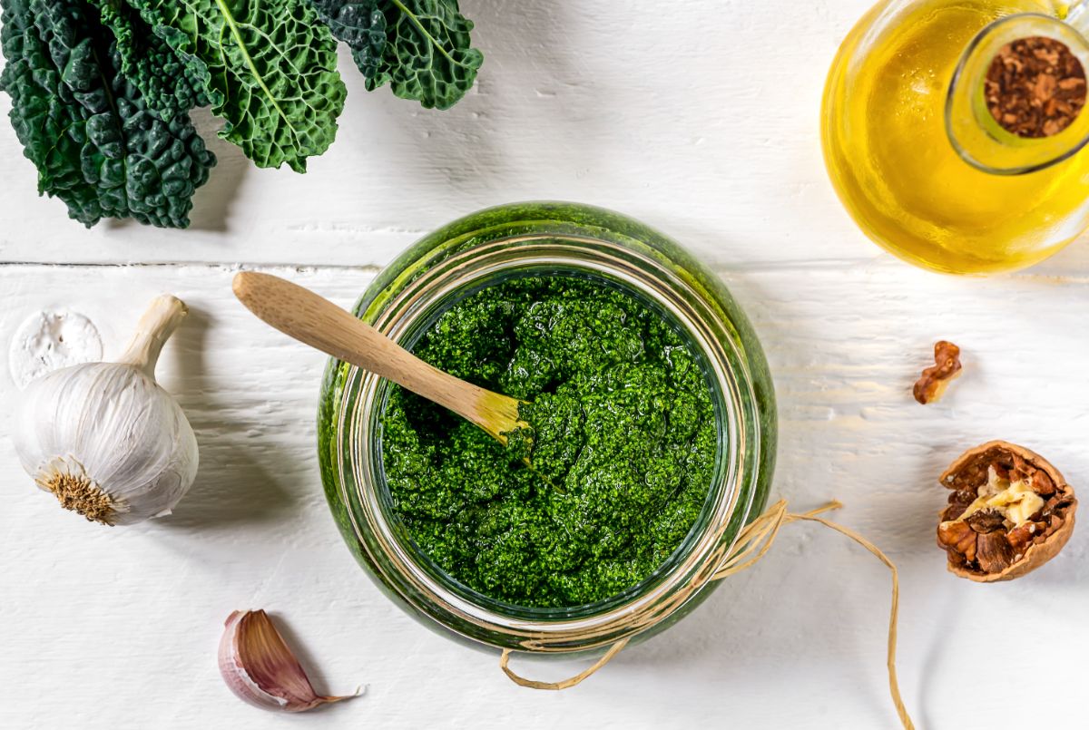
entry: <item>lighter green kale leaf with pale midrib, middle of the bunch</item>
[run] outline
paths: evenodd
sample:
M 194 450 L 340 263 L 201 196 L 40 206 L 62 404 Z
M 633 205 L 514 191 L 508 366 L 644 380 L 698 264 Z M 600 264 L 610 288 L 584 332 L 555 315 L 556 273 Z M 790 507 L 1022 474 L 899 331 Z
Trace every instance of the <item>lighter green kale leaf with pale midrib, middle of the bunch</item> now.
M 306 171 L 337 135 L 337 40 L 306 0 L 127 0 L 203 82 L 220 136 L 259 168 Z

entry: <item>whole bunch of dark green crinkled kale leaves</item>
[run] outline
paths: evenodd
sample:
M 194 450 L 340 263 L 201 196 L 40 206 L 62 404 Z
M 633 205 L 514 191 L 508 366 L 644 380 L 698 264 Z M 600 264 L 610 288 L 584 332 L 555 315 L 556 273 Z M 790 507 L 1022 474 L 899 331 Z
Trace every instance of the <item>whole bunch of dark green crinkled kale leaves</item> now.
M 368 90 L 446 109 L 484 61 L 457 0 L 0 0 L 0 90 L 38 190 L 87 225 L 186 227 L 215 156 L 188 113 L 260 168 L 306 171 L 337 134 L 337 40 Z

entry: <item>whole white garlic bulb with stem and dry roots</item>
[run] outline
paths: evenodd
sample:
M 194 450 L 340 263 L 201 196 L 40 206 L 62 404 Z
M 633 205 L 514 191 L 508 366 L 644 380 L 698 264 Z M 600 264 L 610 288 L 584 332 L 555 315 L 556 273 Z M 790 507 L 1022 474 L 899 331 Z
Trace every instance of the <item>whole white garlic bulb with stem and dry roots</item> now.
M 151 302 L 121 360 L 64 368 L 23 392 L 15 451 L 38 486 L 93 522 L 169 515 L 197 473 L 197 442 L 178 403 L 155 382 L 167 338 L 188 312 Z

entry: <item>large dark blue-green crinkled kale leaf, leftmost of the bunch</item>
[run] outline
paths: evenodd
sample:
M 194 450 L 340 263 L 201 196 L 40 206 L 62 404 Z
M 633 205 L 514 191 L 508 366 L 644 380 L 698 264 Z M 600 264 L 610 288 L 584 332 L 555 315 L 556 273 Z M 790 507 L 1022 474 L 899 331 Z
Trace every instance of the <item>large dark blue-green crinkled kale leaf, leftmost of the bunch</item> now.
M 2 0 L 0 89 L 38 168 L 38 190 L 88 227 L 134 218 L 186 227 L 215 156 L 184 113 L 152 110 L 122 69 L 118 42 L 79 0 Z M 145 57 L 150 58 L 150 57 Z

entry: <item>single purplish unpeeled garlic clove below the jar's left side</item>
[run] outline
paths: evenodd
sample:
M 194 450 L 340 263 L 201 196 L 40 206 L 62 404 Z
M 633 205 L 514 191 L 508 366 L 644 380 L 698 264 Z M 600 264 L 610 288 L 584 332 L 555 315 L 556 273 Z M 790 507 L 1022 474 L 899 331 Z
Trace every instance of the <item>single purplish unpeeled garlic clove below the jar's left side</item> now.
M 319 695 L 264 610 L 234 611 L 219 643 L 219 670 L 238 697 L 264 709 L 302 713 L 350 695 Z

